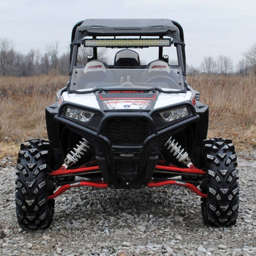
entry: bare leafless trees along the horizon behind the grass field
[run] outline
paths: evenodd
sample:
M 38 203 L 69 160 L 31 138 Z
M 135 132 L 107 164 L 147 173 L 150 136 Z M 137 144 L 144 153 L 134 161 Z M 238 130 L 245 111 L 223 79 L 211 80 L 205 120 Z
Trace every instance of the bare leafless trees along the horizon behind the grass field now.
M 78 59 L 86 61 L 89 52 L 80 52 Z M 100 53 L 106 58 L 105 52 Z M 188 74 L 256 74 L 256 43 L 244 52 L 244 58 L 236 66 L 230 57 L 219 55 L 216 59 L 212 56 L 204 57 L 199 67 L 188 65 Z M 58 51 L 58 42 L 47 44 L 46 52 L 41 54 L 39 50 L 31 49 L 28 54 L 16 52 L 9 39 L 0 39 L 0 76 L 34 76 L 38 74 L 49 74 L 52 71 L 58 74 L 68 74 L 70 65 L 70 54 L 61 54 Z

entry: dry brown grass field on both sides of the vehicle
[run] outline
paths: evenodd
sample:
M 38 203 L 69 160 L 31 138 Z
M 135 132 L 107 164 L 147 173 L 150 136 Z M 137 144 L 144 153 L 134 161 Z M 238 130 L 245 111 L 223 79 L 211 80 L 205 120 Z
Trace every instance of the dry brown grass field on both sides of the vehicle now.
M 255 76 L 188 76 L 188 83 L 210 106 L 209 137 L 232 138 L 237 148 L 256 147 Z M 12 153 L 21 141 L 47 138 L 44 107 L 67 76 L 0 78 L 0 157 Z

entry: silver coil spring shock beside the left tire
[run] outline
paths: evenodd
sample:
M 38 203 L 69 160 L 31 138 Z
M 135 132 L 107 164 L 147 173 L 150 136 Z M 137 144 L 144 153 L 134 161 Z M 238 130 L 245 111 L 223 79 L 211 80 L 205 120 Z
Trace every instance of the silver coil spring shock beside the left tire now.
M 89 142 L 87 142 L 85 138 L 82 138 L 82 141 L 80 141 L 79 144 L 76 145 L 76 148 L 73 148 L 74 151 L 70 151 L 70 153 L 66 155 L 66 158 L 64 160 L 65 167 L 69 167 L 78 162 L 79 159 L 84 156 L 84 153 L 87 152 L 88 148 L 90 148 Z

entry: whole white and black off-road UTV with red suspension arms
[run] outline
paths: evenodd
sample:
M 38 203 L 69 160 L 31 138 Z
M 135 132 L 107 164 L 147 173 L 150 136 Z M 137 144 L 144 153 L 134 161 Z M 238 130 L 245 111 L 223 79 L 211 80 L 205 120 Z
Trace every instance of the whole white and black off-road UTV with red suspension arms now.
M 108 63 L 106 63 L 108 62 Z M 186 82 L 182 26 L 167 19 L 87 19 L 71 34 L 70 79 L 46 107 L 49 141 L 20 146 L 18 224 L 47 228 L 54 198 L 76 186 L 184 186 L 206 225 L 236 223 L 236 153 L 207 137 L 209 107 Z

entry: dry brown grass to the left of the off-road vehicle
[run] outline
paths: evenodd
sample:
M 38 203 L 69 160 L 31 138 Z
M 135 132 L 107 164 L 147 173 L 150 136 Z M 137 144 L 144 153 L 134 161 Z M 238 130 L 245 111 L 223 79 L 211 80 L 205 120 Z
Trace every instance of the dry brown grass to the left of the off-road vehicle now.
M 0 77 L 0 159 L 17 154 L 30 138 L 47 138 L 44 108 L 55 101 L 68 76 Z

